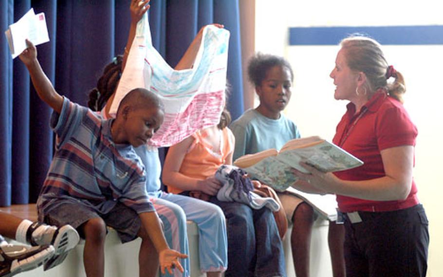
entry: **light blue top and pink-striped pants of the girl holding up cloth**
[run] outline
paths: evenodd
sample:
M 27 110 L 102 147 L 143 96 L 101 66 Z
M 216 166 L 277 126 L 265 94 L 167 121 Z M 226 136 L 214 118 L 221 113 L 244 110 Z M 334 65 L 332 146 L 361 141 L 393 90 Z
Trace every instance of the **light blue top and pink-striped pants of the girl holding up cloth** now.
M 137 147 L 135 151 L 145 164 L 148 195 L 151 197 L 157 214 L 163 221 L 164 233 L 169 247 L 181 253 L 189 254 L 186 220 L 194 221 L 199 229 L 201 271 L 226 270 L 228 266 L 226 223 L 221 208 L 196 198 L 160 191 L 161 164 L 158 150 L 142 145 Z M 176 276 L 189 276 L 189 259 L 182 259 L 181 263 L 185 273 Z

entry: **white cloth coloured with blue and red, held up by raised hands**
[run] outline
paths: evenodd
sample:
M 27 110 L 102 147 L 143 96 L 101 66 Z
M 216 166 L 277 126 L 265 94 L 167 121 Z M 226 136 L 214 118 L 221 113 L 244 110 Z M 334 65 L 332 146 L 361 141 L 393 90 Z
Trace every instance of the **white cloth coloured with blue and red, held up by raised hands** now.
M 149 145 L 170 146 L 199 129 L 217 125 L 225 105 L 228 42 L 229 31 L 206 26 L 193 68 L 174 70 L 152 46 L 145 14 L 137 24 L 110 114 L 115 117 L 129 91 L 143 87 L 157 94 L 165 106 L 163 124 Z

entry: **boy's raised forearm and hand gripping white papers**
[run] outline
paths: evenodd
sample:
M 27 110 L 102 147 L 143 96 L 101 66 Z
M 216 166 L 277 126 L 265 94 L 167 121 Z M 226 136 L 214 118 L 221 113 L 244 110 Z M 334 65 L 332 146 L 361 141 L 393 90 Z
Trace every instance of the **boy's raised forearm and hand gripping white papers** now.
M 26 65 L 38 97 L 51 106 L 54 111 L 60 113 L 61 108 L 63 107 L 63 97 L 55 91 L 51 81 L 41 69 L 40 63 L 37 60 L 36 46 L 34 46 L 29 40 L 26 40 L 26 45 L 28 48 L 26 48 L 18 57 Z

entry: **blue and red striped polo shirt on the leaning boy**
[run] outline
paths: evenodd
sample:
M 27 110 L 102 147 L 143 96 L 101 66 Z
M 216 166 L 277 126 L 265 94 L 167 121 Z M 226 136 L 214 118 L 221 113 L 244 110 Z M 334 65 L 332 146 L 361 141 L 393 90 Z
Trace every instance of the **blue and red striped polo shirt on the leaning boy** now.
M 117 202 L 139 214 L 155 211 L 146 191 L 145 167 L 130 144 L 112 141 L 112 121 L 66 97 L 61 113 L 53 113 L 55 155 L 37 200 L 40 220 L 64 203 L 101 214 Z

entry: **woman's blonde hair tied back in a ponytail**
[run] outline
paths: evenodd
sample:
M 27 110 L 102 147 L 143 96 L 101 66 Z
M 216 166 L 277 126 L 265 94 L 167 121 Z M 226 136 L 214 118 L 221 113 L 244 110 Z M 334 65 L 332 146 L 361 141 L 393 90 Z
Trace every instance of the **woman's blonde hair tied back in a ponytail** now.
M 367 78 L 368 92 L 383 88 L 388 95 L 403 103 L 402 95 L 406 92 L 403 75 L 388 65 L 380 43 L 361 35 L 352 35 L 340 42 L 349 68 L 363 72 Z M 390 77 L 393 82 L 388 82 Z

